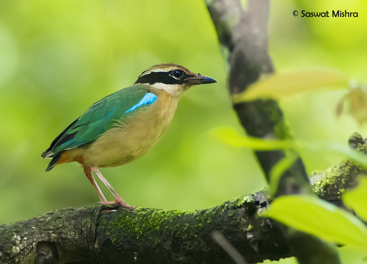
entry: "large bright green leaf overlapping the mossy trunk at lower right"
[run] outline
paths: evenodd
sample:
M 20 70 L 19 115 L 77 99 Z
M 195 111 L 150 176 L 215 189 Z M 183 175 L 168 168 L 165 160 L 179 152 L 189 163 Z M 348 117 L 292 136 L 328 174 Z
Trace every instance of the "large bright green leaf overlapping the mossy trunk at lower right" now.
M 367 251 L 367 228 L 357 217 L 313 196 L 276 198 L 261 214 L 326 241 Z

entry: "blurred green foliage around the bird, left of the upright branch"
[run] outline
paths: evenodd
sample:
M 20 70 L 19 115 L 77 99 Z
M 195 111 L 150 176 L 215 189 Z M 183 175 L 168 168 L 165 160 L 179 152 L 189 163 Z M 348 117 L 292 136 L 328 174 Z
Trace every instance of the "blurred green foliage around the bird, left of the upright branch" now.
M 98 202 L 78 164 L 46 173 L 50 160 L 40 154 L 92 103 L 163 62 L 218 83 L 191 89 L 151 151 L 131 164 L 102 169 L 103 175 L 128 203 L 167 209 L 207 208 L 264 186 L 250 150 L 228 148 L 206 134 L 218 125 L 241 128 L 225 89 L 214 27 L 205 5 L 197 3 L 0 1 L 6 69 L 0 70 L 0 198 L 7 201 L 0 223 Z M 6 213 L 8 203 L 22 209 Z

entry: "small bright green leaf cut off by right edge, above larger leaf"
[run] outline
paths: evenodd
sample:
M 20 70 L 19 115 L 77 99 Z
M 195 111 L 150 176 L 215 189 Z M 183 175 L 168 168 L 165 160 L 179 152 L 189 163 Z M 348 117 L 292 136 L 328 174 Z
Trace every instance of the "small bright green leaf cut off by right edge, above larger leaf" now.
M 343 202 L 346 206 L 353 208 L 358 216 L 367 220 L 367 178 L 359 179 L 359 185 L 343 194 Z

